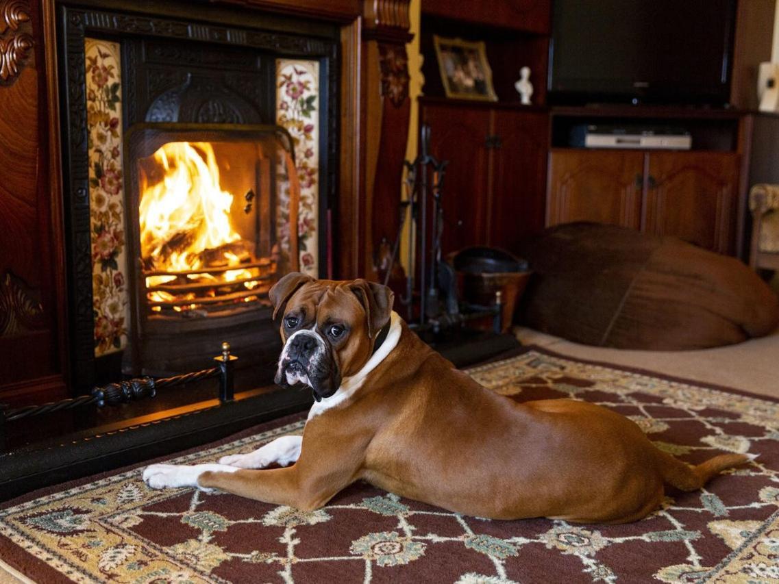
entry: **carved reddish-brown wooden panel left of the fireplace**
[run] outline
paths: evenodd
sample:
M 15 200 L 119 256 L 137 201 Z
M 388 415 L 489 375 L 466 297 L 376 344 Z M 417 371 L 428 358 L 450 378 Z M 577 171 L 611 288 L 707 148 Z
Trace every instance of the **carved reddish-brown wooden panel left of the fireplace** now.
M 65 396 L 41 10 L 0 0 L 0 401 Z

